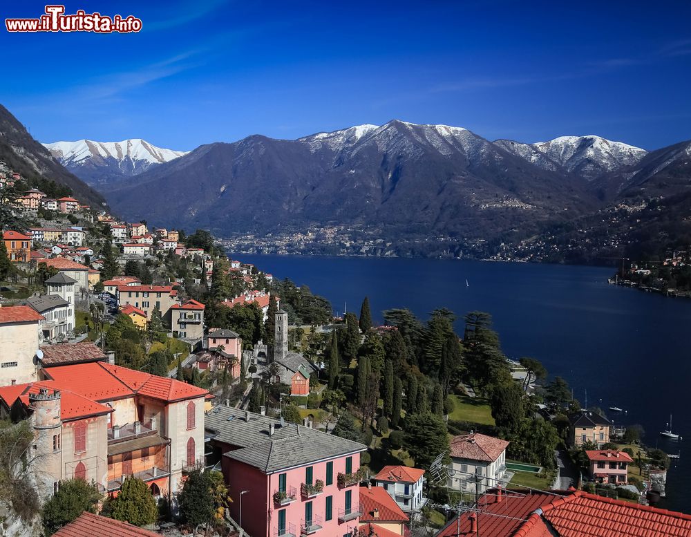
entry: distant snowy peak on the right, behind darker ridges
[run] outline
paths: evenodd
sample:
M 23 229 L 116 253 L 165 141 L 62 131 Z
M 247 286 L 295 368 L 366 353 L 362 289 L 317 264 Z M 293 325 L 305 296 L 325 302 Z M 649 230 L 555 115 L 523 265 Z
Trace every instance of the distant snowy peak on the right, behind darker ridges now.
M 639 162 L 647 151 L 600 136 L 560 136 L 533 147 L 553 162 L 588 180 Z

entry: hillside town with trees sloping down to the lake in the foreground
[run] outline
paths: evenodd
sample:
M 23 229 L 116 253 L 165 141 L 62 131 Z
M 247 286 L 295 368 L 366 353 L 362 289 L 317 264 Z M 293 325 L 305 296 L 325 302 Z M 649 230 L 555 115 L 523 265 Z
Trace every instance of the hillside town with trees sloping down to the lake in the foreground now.
M 337 317 L 4 162 L 0 200 L 0 535 L 691 536 L 669 455 L 489 314 Z

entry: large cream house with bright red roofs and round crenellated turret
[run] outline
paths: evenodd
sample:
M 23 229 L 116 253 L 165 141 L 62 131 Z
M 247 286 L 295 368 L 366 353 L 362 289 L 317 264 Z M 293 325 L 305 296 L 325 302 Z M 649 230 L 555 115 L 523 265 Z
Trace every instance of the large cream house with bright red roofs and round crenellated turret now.
M 39 376 L 0 388 L 0 417 L 28 417 L 43 427 L 37 450 L 50 455 L 37 462 L 44 496 L 70 478 L 117 493 L 127 475 L 168 496 L 184 473 L 202 466 L 207 390 L 105 361 L 57 365 Z M 31 393 L 45 404 L 30 402 Z M 39 424 L 48 415 L 50 423 Z

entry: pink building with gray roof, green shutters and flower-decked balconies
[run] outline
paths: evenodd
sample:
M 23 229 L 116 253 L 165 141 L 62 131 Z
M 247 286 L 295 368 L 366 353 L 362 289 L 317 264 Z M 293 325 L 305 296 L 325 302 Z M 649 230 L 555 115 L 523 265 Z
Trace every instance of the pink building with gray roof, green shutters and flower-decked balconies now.
M 252 537 L 332 537 L 358 527 L 363 444 L 230 406 L 216 406 L 205 427 L 234 498 L 231 516 L 240 520 L 242 495 Z

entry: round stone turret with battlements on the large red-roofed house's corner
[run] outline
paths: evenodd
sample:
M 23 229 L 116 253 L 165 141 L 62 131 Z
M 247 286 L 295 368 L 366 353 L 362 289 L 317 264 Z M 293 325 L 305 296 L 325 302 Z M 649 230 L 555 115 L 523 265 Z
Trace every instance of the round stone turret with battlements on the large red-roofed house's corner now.
M 62 479 L 61 397 L 58 390 L 40 388 L 29 394 L 33 410 L 31 424 L 35 433 L 36 451 L 32 453 L 32 471 L 41 500 L 53 496 L 54 484 Z

